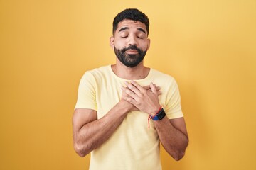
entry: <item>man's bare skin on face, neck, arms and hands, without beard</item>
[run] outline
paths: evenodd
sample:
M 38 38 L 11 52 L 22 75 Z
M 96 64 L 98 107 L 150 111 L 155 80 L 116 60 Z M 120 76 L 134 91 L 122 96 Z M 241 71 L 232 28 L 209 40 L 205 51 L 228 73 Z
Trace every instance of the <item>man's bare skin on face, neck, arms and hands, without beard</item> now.
M 136 45 L 145 51 L 150 47 L 146 26 L 139 21 L 124 20 L 119 22 L 117 30 L 110 38 L 110 46 L 114 50 Z M 137 50 L 128 50 L 127 54 L 137 54 Z M 149 74 L 149 68 L 144 67 L 143 60 L 136 67 L 127 67 L 118 59 L 112 65 L 114 74 L 123 79 L 129 79 L 127 86 L 122 87 L 121 100 L 100 119 L 97 111 L 85 108 L 75 109 L 73 114 L 73 144 L 75 152 L 85 157 L 93 149 L 100 147 L 114 131 L 121 125 L 122 120 L 130 111 L 140 110 L 155 115 L 159 111 L 160 88 L 154 84 L 139 86 L 137 79 L 144 79 Z M 185 154 L 188 145 L 186 123 L 183 118 L 169 120 L 165 116 L 162 120 L 154 121 L 156 132 L 166 151 L 179 160 Z

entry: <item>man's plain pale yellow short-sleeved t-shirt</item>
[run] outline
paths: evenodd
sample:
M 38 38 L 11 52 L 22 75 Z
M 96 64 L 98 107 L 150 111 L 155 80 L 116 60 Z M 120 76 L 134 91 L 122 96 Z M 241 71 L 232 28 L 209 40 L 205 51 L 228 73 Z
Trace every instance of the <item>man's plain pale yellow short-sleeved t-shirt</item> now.
M 111 66 L 100 67 L 85 72 L 78 89 L 78 101 L 75 108 L 90 108 L 102 118 L 122 96 L 121 87 L 126 79 L 117 77 Z M 181 118 L 181 99 L 178 86 L 173 77 L 150 69 L 145 79 L 136 80 L 141 86 L 151 82 L 161 87 L 159 103 L 169 119 Z M 159 155 L 159 137 L 154 128 L 154 120 L 142 111 L 132 111 L 122 124 L 102 146 L 91 153 L 90 170 L 161 169 Z

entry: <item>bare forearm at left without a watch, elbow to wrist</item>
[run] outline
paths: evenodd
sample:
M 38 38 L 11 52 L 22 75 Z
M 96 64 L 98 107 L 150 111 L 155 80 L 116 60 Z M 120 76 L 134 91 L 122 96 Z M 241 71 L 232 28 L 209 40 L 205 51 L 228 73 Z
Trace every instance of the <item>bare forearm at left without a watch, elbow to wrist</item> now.
M 117 103 L 104 117 L 83 125 L 75 135 L 75 150 L 80 157 L 89 154 L 109 139 L 128 112 L 127 106 Z

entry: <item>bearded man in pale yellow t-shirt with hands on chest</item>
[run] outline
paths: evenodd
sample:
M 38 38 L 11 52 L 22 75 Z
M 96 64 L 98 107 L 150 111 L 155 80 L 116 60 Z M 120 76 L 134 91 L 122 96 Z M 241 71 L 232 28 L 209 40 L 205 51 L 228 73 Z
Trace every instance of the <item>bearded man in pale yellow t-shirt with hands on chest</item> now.
M 144 13 L 119 13 L 110 38 L 116 64 L 85 72 L 80 81 L 73 142 L 80 157 L 92 152 L 90 169 L 161 169 L 159 141 L 176 160 L 185 153 L 188 134 L 176 81 L 144 67 L 148 35 Z

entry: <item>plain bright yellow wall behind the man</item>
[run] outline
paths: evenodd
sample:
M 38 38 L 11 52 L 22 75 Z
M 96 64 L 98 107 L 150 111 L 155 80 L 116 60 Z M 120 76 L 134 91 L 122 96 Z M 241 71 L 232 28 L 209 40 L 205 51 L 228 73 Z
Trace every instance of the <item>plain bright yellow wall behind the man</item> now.
M 149 16 L 145 64 L 181 91 L 190 143 L 163 169 L 256 169 L 256 1 L 0 1 L 0 169 L 87 169 L 71 118 L 82 74 L 112 64 L 112 20 Z

